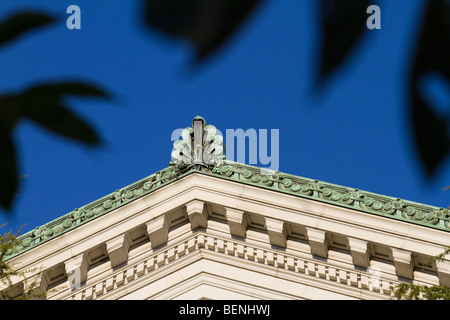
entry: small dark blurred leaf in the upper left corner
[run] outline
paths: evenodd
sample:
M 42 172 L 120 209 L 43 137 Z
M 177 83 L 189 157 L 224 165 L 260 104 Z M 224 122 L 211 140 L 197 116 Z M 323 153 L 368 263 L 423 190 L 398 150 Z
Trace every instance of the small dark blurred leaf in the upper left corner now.
M 34 28 L 54 22 L 55 18 L 39 12 L 17 13 L 0 23 L 0 45 L 21 36 Z

